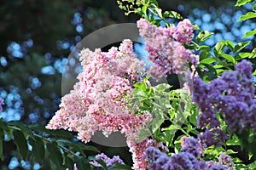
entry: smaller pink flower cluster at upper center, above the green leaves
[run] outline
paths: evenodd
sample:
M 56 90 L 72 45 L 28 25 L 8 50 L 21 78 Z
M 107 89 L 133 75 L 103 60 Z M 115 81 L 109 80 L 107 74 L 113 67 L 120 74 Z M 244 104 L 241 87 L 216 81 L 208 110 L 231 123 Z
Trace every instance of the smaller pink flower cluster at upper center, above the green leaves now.
M 183 74 L 188 71 L 188 63 L 197 65 L 198 55 L 192 50 L 184 48 L 183 44 L 189 44 L 193 38 L 194 27 L 185 19 L 177 24 L 177 27 L 152 26 L 147 20 L 137 21 L 140 36 L 146 40 L 146 50 L 151 61 L 155 64 L 149 69 L 149 73 L 156 79 L 164 77 L 172 72 Z

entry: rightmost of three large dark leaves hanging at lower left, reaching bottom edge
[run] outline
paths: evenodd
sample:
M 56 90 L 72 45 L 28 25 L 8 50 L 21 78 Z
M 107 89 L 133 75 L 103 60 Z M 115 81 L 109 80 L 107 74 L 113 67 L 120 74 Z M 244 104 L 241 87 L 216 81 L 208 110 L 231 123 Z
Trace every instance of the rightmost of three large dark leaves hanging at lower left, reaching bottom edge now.
M 63 158 L 58 144 L 56 142 L 49 142 L 47 144 L 47 152 L 51 169 L 62 169 Z

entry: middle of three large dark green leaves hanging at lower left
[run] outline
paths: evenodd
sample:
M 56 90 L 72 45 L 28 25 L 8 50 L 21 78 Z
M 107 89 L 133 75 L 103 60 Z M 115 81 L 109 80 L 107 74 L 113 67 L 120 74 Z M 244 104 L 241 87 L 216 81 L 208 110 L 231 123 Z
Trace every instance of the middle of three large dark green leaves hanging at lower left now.
M 42 164 L 44 161 L 44 142 L 38 136 L 34 136 L 33 138 L 29 138 L 29 143 L 32 145 L 32 156 L 35 158 L 38 163 Z

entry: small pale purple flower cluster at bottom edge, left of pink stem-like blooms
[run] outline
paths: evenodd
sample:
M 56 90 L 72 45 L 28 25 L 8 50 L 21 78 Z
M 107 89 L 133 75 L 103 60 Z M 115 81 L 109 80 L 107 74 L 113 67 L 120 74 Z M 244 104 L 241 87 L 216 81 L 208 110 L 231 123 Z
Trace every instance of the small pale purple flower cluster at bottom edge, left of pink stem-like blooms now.
M 106 163 L 107 166 L 114 165 L 114 164 L 125 164 L 123 160 L 120 159 L 119 156 L 113 156 L 113 158 L 109 158 L 104 153 L 96 155 L 96 158 L 101 159 Z M 90 161 L 90 164 L 95 167 L 102 167 L 97 161 Z

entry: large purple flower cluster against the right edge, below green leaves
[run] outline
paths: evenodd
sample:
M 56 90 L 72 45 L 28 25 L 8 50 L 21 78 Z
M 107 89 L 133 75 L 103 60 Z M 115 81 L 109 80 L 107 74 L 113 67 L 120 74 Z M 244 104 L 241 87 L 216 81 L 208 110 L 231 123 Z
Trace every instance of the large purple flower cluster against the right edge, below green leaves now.
M 241 133 L 253 127 L 256 132 L 256 99 L 254 97 L 252 65 L 242 60 L 236 71 L 224 72 L 211 83 L 195 77 L 193 101 L 202 114 L 198 127 L 219 127 L 216 113 L 227 123 L 231 132 Z

